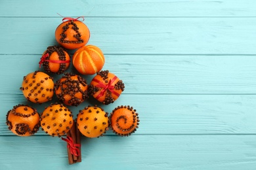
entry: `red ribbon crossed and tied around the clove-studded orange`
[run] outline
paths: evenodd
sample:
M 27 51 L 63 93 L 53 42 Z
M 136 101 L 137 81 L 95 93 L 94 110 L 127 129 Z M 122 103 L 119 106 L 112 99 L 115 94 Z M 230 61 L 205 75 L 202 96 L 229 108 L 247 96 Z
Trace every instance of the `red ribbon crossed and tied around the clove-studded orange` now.
M 104 84 L 100 80 L 97 80 L 97 79 L 93 78 L 92 81 L 98 83 L 96 85 L 96 87 L 102 88 L 102 91 L 95 97 L 95 99 L 99 99 L 100 97 L 102 97 L 104 95 L 104 93 L 106 92 L 106 90 L 109 90 L 110 92 L 114 93 L 114 95 L 119 97 L 120 94 L 117 93 L 116 91 L 114 91 L 115 90 L 115 86 L 112 85 L 114 83 L 114 81 L 116 80 L 116 78 L 117 78 L 117 76 L 114 76 L 114 78 L 109 80 L 108 84 Z

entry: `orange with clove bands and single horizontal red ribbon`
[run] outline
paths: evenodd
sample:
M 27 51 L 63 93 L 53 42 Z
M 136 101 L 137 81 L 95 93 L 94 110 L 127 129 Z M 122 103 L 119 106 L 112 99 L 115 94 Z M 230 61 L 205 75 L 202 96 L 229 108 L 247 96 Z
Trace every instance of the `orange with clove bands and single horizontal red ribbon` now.
M 40 67 L 41 64 L 46 72 L 60 75 L 70 66 L 70 56 L 60 46 L 49 46 L 39 61 Z

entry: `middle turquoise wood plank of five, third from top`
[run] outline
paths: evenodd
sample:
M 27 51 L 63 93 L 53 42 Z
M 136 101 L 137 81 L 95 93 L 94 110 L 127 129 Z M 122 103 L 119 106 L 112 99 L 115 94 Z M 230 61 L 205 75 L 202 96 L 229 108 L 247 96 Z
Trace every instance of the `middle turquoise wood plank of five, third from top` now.
M 0 93 L 22 93 L 23 76 L 44 71 L 39 68 L 40 58 L 41 55 L 1 55 L 0 67 L 4 72 L 0 73 Z M 123 93 L 256 93 L 255 56 L 105 55 L 105 58 L 103 70 L 108 69 L 123 80 Z M 7 63 L 13 63 L 16 69 Z M 68 72 L 77 73 L 73 65 Z M 54 81 L 62 76 L 50 75 Z M 83 77 L 88 83 L 93 78 Z

